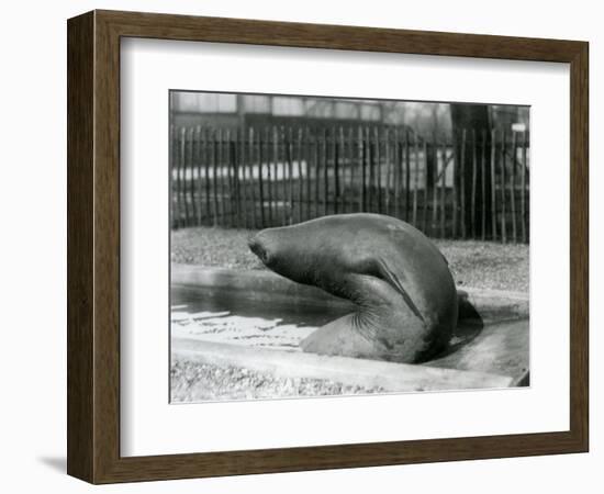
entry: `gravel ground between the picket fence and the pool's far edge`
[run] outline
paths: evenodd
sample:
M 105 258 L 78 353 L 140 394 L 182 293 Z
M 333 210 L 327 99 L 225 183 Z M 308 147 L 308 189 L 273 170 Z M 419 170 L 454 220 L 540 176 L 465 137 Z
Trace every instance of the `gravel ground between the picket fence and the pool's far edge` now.
M 266 269 L 247 248 L 253 231 L 184 228 L 172 232 L 171 260 L 186 265 Z M 456 283 L 528 292 L 528 246 L 477 240 L 434 240 L 449 261 Z

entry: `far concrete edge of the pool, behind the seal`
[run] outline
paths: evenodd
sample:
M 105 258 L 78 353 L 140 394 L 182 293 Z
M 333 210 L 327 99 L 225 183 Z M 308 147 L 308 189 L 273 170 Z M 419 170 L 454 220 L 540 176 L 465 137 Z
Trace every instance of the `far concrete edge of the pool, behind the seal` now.
M 295 296 L 306 303 L 350 305 L 315 287 L 294 283 L 272 271 L 213 268 L 197 265 L 171 263 L 170 283 L 184 287 L 244 290 L 248 297 L 273 300 Z M 458 287 L 460 301 L 469 302 L 479 312 L 513 306 L 519 315 L 528 316 L 529 296 L 524 292 Z

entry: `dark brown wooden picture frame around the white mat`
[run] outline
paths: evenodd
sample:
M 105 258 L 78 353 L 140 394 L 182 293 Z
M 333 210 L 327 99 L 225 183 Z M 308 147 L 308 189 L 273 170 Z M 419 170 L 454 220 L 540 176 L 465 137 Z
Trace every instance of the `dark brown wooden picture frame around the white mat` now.
M 67 27 L 70 475 L 110 483 L 588 451 L 588 43 L 114 11 L 82 14 Z M 570 64 L 570 430 L 121 457 L 122 37 Z

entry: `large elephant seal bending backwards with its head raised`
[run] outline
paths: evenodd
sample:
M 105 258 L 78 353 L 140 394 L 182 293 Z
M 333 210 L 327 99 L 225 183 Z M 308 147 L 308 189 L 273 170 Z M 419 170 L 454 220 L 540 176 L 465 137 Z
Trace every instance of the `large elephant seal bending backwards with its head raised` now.
M 248 245 L 272 271 L 356 304 L 302 340 L 304 351 L 412 363 L 451 338 L 458 302 L 447 260 L 401 220 L 323 216 L 264 229 Z

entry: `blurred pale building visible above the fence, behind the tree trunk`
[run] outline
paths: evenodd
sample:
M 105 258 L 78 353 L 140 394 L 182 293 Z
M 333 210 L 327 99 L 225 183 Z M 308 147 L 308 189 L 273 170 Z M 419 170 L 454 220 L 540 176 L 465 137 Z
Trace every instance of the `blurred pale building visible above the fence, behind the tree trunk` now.
M 429 139 L 449 138 L 452 128 L 449 103 L 200 91 L 172 91 L 170 98 L 176 126 L 399 126 Z M 528 106 L 489 105 L 489 111 L 492 127 L 528 130 Z

